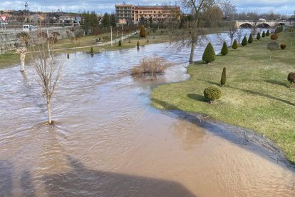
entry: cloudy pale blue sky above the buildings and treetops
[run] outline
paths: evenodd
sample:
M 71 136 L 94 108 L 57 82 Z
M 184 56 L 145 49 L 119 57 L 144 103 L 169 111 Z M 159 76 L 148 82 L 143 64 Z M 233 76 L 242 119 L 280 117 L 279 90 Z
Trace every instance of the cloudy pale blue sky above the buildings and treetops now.
M 122 4 L 122 1 L 117 0 L 27 0 L 29 10 L 31 11 L 95 11 L 103 14 L 105 12 L 114 12 L 115 4 Z M 126 0 L 127 4 L 140 5 L 155 5 L 172 2 L 175 0 Z M 274 11 L 274 13 L 291 15 L 295 11 L 295 0 L 232 0 L 237 11 L 256 11 L 258 13 Z M 2 0 L 0 3 L 0 10 L 6 9 L 24 9 L 24 1 Z

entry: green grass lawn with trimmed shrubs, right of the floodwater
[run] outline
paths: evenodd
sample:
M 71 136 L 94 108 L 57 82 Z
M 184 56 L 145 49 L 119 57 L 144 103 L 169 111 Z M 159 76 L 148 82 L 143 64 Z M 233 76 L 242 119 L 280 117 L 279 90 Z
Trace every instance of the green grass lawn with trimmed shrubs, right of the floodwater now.
M 295 162 L 295 89 L 289 89 L 287 81 L 289 72 L 295 72 L 295 46 L 290 46 L 289 33 L 280 33 L 278 42 L 287 47 L 274 51 L 269 59 L 266 46 L 270 41 L 270 36 L 255 39 L 245 47 L 229 49 L 227 56 L 217 56 L 210 65 L 199 61 L 188 66 L 191 79 L 158 86 L 152 91 L 152 104 L 250 128 L 274 141 Z M 220 87 L 223 67 L 227 68 L 227 84 Z M 222 90 L 222 98 L 214 104 L 203 96 L 208 86 Z

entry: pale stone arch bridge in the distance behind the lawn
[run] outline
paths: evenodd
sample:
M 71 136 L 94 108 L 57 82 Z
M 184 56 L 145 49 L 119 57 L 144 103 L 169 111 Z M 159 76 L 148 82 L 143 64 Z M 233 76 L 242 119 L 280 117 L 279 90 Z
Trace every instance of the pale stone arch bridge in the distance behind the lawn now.
M 237 27 L 262 27 L 262 28 L 269 28 L 269 27 L 276 27 L 280 25 L 285 25 L 287 21 L 236 21 Z

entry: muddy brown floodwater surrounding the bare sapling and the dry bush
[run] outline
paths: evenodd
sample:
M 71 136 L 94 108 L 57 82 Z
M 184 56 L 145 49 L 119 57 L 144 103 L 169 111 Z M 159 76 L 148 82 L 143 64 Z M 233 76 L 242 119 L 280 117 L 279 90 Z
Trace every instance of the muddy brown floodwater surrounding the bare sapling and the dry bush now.
M 31 66 L 1 69 L 0 196 L 295 196 L 294 168 L 251 132 L 150 106 L 152 86 L 188 79 L 188 50 L 171 50 L 60 56 L 53 129 Z M 177 66 L 157 81 L 131 78 L 153 54 Z

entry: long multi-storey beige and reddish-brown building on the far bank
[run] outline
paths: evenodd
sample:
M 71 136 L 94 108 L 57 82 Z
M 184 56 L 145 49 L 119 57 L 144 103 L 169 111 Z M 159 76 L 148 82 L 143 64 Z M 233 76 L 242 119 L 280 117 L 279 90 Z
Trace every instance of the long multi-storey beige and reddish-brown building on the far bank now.
M 179 6 L 133 6 L 131 4 L 116 4 L 115 15 L 119 24 L 140 21 L 140 19 L 152 21 L 177 20 L 180 18 Z

